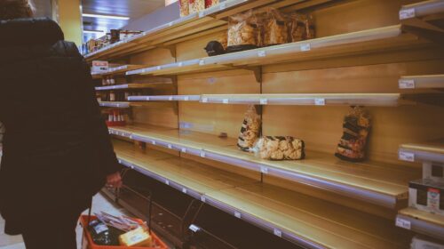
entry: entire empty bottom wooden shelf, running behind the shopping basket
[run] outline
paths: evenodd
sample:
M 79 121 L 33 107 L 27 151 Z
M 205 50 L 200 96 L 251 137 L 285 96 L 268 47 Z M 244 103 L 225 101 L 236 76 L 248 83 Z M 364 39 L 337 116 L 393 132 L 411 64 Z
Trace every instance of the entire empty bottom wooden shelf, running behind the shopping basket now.
M 123 165 L 243 221 L 309 248 L 406 248 L 411 233 L 369 213 L 116 141 Z M 161 157 L 164 155 L 163 157 Z

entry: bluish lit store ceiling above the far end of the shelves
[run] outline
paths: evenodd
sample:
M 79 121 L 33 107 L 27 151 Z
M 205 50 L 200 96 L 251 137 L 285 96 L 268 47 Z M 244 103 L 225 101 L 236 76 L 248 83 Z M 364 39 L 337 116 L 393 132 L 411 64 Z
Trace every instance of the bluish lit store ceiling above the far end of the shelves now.
M 83 17 L 83 29 L 103 30 L 122 28 L 131 20 L 164 7 L 164 0 L 82 0 L 83 13 L 130 17 L 130 20 L 112 20 Z

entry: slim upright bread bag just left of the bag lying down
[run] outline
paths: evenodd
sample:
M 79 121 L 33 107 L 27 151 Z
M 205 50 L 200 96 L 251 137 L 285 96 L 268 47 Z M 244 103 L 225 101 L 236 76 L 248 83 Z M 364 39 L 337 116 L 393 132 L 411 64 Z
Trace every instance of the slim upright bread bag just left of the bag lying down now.
M 256 108 L 254 106 L 250 106 L 243 119 L 241 133 L 239 134 L 237 141 L 237 147 L 243 151 L 251 152 L 255 142 L 258 140 L 260 128 L 260 116 L 258 116 Z

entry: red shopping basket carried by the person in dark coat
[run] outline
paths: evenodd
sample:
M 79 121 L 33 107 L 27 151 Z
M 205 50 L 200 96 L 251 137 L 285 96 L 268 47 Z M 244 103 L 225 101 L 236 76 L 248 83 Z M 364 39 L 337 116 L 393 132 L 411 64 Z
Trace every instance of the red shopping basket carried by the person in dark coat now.
M 153 242 L 155 247 L 139 247 L 139 246 L 120 246 L 120 245 L 96 245 L 94 241 L 92 241 L 92 237 L 90 231 L 88 231 L 88 221 L 94 221 L 97 217 L 91 215 L 91 218 L 88 219 L 88 215 L 82 215 L 80 217 L 80 223 L 83 227 L 83 239 L 82 239 L 82 249 L 168 249 L 168 246 L 163 243 L 163 241 L 155 235 L 153 231 L 151 231 L 151 237 L 153 237 Z M 143 224 L 142 220 L 133 219 L 134 221 L 139 222 L 139 224 Z

